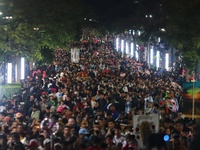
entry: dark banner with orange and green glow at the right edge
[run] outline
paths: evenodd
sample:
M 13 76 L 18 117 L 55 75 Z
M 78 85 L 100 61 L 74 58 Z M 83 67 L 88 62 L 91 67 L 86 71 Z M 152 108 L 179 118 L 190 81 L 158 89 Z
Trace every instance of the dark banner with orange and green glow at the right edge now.
M 183 114 L 185 117 L 199 118 L 200 114 L 200 82 L 183 83 Z M 194 116 L 193 116 L 194 115 Z

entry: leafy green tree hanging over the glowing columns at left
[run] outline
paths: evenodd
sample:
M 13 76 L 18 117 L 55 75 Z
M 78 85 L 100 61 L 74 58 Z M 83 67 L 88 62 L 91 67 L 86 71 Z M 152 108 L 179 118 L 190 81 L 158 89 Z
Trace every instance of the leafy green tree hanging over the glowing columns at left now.
M 0 39 L 3 51 L 42 59 L 41 47 L 68 48 L 80 39 L 81 0 L 8 0 L 4 2 Z M 11 16 L 12 19 L 6 19 Z

